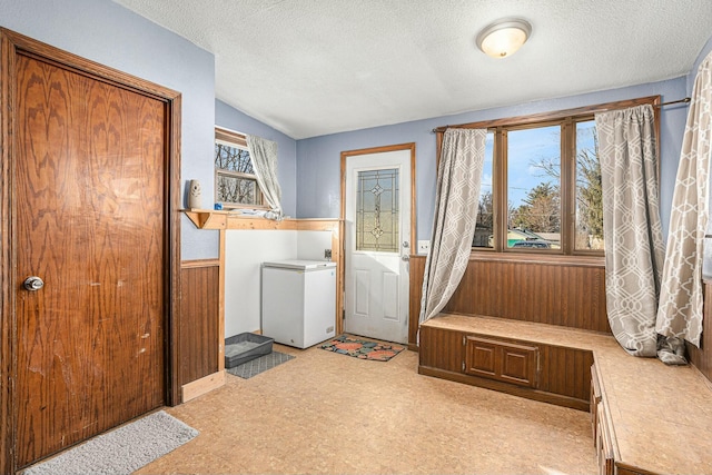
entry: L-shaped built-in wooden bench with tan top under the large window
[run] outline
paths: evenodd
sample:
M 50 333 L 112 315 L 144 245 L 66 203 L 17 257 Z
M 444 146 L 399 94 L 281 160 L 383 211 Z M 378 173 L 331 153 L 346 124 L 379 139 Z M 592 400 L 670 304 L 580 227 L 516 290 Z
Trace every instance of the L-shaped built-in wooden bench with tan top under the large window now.
M 442 314 L 421 326 L 418 372 L 591 410 L 602 473 L 712 473 L 710 382 L 609 334 Z

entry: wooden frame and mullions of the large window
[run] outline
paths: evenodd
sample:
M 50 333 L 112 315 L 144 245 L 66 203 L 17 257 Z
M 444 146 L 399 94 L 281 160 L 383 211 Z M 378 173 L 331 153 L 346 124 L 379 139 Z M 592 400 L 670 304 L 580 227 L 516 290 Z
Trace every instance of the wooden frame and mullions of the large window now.
M 605 112 L 611 110 L 620 110 L 635 106 L 651 105 L 654 110 L 655 119 L 655 148 L 657 157 L 660 157 L 660 106 L 661 96 L 646 96 L 636 99 L 626 99 L 614 102 L 605 102 L 593 106 L 584 106 L 574 109 L 565 109 L 542 113 L 534 113 L 530 116 L 517 116 L 510 118 L 501 118 L 493 120 L 483 120 L 478 122 L 462 123 L 456 126 L 438 127 L 433 131 L 436 132 L 436 170 L 439 168 L 439 159 L 443 147 L 443 135 L 447 128 L 462 128 L 462 129 L 487 129 L 487 131 L 494 131 L 494 157 L 492 164 L 493 172 L 493 200 L 494 200 L 494 247 L 473 247 L 472 254 L 483 253 L 484 255 L 492 256 L 494 254 L 500 255 L 550 255 L 550 256 L 570 256 L 570 257 L 602 257 L 602 250 L 587 250 L 575 249 L 575 190 L 576 190 L 576 176 L 575 168 L 572 166 L 573 161 L 571 157 L 576 155 L 575 140 L 571 140 L 572 133 L 575 133 L 575 127 L 577 122 L 592 120 L 597 112 Z M 504 140 L 508 130 L 522 130 L 545 127 L 551 125 L 561 125 L 561 196 L 562 196 L 562 246 L 561 249 L 542 249 L 542 248 L 507 248 L 506 241 L 506 221 L 507 217 L 507 202 L 504 197 L 506 196 L 506 174 L 507 174 L 507 157 L 506 149 L 504 148 Z M 571 129 L 574 129 L 572 132 Z M 501 150 L 501 151 L 500 151 Z M 660 160 L 657 161 L 657 177 L 660 179 Z M 565 197 L 565 199 L 564 199 Z

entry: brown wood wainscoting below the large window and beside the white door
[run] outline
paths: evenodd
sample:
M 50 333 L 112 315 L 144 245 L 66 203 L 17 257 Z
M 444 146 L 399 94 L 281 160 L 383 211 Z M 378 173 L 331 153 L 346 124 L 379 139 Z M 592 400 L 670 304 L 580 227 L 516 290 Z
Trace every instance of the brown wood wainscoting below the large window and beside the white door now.
M 425 256 L 411 256 L 408 344 L 417 344 Z M 473 253 L 445 313 L 611 333 L 602 257 Z

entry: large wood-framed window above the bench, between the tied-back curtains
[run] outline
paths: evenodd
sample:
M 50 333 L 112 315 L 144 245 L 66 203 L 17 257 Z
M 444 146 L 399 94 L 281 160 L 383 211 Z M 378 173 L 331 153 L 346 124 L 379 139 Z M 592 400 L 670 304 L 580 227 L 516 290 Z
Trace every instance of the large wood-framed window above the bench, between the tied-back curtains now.
M 657 101 L 467 125 L 487 129 L 473 250 L 602 255 L 594 112 Z

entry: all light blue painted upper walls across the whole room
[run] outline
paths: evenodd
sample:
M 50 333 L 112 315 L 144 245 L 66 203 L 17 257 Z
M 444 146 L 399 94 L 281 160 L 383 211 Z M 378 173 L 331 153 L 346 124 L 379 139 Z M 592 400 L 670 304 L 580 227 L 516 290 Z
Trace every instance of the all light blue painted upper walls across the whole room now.
M 0 0 L 0 26 L 58 48 L 154 81 L 182 93 L 181 178 L 199 179 L 204 207 L 214 195 L 212 126 L 215 123 L 276 140 L 285 212 L 300 218 L 337 218 L 340 208 L 339 159 L 344 150 L 416 144 L 417 234 L 428 239 L 435 196 L 434 127 L 575 108 L 661 95 L 663 101 L 689 95 L 696 68 L 712 50 L 703 48 L 686 77 L 547 101 L 461 113 L 295 141 L 264 123 L 215 100 L 215 59 L 170 31 L 110 0 Z M 668 227 L 674 177 L 688 108 L 664 108 L 661 125 L 661 198 Z M 348 111 L 344 111 L 348 113 Z M 296 180 L 295 180 L 296 176 Z M 182 222 L 182 258 L 218 255 L 215 231 Z

